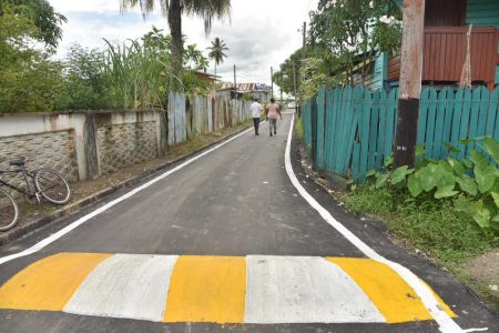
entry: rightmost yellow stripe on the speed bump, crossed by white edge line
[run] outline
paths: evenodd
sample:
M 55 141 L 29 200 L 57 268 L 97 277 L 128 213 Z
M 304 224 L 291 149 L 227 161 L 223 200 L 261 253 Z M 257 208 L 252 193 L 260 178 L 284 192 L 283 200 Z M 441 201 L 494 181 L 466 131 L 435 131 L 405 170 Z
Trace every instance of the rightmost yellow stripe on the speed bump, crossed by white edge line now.
M 432 320 L 416 292 L 389 266 L 370 259 L 326 258 L 363 289 L 387 323 Z M 435 294 L 435 293 L 434 293 Z M 456 316 L 441 300 L 446 312 Z

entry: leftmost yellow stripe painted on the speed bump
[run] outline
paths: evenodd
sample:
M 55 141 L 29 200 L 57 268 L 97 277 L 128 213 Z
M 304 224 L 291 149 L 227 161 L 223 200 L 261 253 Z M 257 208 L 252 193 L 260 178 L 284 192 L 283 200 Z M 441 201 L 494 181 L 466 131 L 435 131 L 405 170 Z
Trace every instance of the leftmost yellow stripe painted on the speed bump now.
M 29 265 L 0 289 L 0 309 L 62 311 L 86 275 L 112 254 L 60 253 Z

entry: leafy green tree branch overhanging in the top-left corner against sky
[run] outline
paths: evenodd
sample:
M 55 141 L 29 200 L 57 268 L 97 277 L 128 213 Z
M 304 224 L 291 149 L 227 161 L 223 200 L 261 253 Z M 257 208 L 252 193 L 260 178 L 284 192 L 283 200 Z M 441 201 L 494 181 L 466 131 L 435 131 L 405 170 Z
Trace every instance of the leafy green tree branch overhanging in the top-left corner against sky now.
M 4 14 L 8 6 L 33 22 L 39 29 L 37 39 L 51 48 L 58 47 L 62 38 L 61 24 L 67 22 L 67 18 L 55 12 L 48 0 L 0 0 L 0 16 Z

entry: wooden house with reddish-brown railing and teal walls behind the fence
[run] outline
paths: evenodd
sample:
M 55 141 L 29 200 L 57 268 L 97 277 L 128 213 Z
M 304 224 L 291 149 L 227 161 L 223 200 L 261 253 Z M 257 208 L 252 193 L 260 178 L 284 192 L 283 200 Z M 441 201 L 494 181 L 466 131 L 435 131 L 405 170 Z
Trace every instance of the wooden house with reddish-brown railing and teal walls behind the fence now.
M 499 0 L 426 0 L 422 84 L 458 85 L 471 28 L 470 72 L 473 85 L 499 85 Z M 366 80 L 371 89 L 396 87 L 400 57 L 380 53 Z

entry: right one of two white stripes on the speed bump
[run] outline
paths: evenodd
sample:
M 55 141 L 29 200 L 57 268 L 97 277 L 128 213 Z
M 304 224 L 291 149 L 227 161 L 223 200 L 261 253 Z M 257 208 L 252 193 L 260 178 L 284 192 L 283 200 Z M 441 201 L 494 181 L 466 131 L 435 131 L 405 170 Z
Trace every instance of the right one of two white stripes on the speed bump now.
M 317 256 L 246 256 L 245 323 L 385 323 L 340 268 Z

